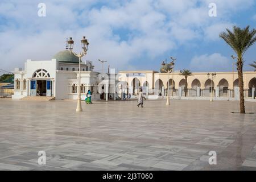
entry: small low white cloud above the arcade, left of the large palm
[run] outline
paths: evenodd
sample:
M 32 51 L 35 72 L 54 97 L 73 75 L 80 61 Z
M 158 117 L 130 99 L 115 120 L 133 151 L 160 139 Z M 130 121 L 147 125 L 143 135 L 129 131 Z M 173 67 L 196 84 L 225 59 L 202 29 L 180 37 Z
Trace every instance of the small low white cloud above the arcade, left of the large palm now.
M 222 56 L 220 53 L 213 53 L 212 55 L 204 54 L 195 56 L 191 60 L 190 67 L 193 71 L 228 71 L 232 63 L 230 59 Z

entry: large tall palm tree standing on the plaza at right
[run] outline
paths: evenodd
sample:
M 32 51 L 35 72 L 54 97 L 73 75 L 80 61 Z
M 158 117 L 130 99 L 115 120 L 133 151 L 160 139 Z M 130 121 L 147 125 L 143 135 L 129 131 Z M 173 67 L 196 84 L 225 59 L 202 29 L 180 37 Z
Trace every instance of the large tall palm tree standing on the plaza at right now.
M 224 39 L 226 43 L 237 54 L 237 72 L 238 84 L 240 88 L 240 113 L 245 114 L 245 99 L 243 96 L 243 55 L 249 47 L 256 42 L 256 30 L 250 30 L 250 26 L 240 28 L 233 26 L 233 32 L 226 28 L 226 32 L 221 32 L 220 38 Z

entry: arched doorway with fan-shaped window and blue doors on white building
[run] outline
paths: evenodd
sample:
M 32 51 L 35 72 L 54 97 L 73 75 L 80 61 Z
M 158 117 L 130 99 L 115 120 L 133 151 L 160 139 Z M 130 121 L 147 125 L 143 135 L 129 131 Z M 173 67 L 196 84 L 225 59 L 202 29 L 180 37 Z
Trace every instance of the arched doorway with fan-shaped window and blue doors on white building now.
M 45 69 L 38 69 L 30 81 L 30 96 L 52 96 L 52 81 Z

